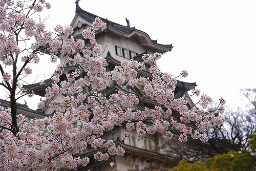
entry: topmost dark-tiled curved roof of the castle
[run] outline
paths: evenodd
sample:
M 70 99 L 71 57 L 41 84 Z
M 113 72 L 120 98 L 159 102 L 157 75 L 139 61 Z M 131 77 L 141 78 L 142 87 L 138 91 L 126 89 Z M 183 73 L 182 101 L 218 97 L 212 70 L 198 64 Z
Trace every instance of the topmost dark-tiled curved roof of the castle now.
M 82 10 L 78 5 L 78 1 L 76 1 L 75 3 L 76 3 L 76 15 L 81 16 L 84 20 L 87 20 L 88 22 L 93 23 L 95 18 L 99 17 L 90 12 Z M 157 40 L 152 40 L 147 33 L 141 30 L 138 30 L 135 27 L 122 26 L 115 22 L 111 22 L 108 19 L 105 19 L 102 17 L 99 17 L 99 18 L 108 25 L 109 30 L 111 30 L 112 32 L 115 32 L 116 34 L 118 34 L 119 32 L 121 33 L 122 36 L 125 36 L 125 37 L 137 36 L 139 37 L 139 41 L 141 41 L 142 44 L 148 44 L 148 46 L 155 45 L 157 49 L 161 50 L 162 52 L 172 51 L 172 48 L 173 48 L 172 44 L 170 45 L 159 44 Z M 74 20 L 72 21 L 72 23 L 73 22 Z

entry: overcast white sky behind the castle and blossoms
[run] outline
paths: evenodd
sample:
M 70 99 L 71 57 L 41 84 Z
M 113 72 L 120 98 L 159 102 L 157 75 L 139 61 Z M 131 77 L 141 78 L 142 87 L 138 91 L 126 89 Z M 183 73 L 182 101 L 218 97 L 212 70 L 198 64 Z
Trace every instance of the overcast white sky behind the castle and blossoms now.
M 70 25 L 75 1 L 50 1 L 49 29 Z M 83 10 L 146 32 L 160 44 L 173 44 L 158 62 L 160 70 L 189 76 L 214 100 L 223 97 L 231 108 L 243 105 L 240 89 L 256 88 L 256 1 L 86 1 Z M 36 18 L 34 18 L 36 19 Z M 44 74 L 44 68 L 38 68 Z M 54 67 L 47 66 L 47 70 Z M 37 71 L 38 72 L 38 71 Z M 51 72 L 50 72 L 51 73 Z M 38 73 L 39 74 L 39 73 Z M 51 74 L 50 74 L 51 75 Z M 47 75 L 48 77 L 50 75 Z M 40 80 L 40 79 L 39 79 Z

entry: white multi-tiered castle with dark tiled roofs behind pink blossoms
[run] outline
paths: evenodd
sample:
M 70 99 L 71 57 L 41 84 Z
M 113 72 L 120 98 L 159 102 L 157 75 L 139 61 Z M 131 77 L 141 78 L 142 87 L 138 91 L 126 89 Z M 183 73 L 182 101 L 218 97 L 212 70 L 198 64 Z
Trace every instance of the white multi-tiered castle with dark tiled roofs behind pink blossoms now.
M 82 10 L 79 7 L 78 1 L 76 1 L 76 14 L 71 23 L 71 26 L 74 28 L 74 39 L 82 39 L 82 31 L 92 26 L 95 18 L 99 17 L 94 14 L 91 14 L 87 11 Z M 100 17 L 101 18 L 101 17 Z M 132 59 L 137 60 L 139 62 L 143 61 L 142 55 L 149 53 L 154 54 L 155 52 L 166 53 L 171 51 L 173 46 L 170 45 L 162 45 L 157 42 L 157 40 L 152 40 L 150 36 L 140 30 L 137 30 L 135 27 L 130 27 L 129 20 L 126 19 L 127 26 L 122 26 L 117 23 L 111 22 L 108 19 L 101 18 L 101 20 L 107 24 L 107 29 L 104 31 L 98 31 L 96 33 L 96 40 L 98 44 L 100 44 L 103 49 L 103 53 L 101 54 L 102 58 L 105 58 L 109 63 L 106 68 L 107 71 L 112 71 L 115 66 L 120 65 L 120 61 L 123 59 Z M 89 42 L 88 42 L 89 43 Z M 65 65 L 65 60 L 60 59 L 61 65 Z M 145 70 L 141 73 L 144 76 L 150 76 L 150 72 L 148 69 L 152 66 L 152 63 L 146 63 Z M 65 73 L 71 72 L 73 67 L 65 68 Z M 49 80 L 46 80 L 46 82 Z M 39 87 L 39 83 L 24 86 L 25 89 L 36 89 Z M 193 101 L 185 96 L 187 91 L 194 89 L 196 87 L 196 83 L 188 83 L 177 80 L 176 90 L 175 90 L 175 98 L 183 97 L 188 101 L 188 106 L 193 106 Z M 135 88 L 136 89 L 136 88 Z M 131 93 L 130 89 L 127 87 L 120 87 L 116 82 L 110 82 L 108 87 L 104 89 L 102 93 L 106 95 L 110 95 L 117 91 L 122 91 L 124 93 Z M 87 90 L 85 89 L 86 93 Z M 138 91 L 139 92 L 139 91 Z M 39 96 L 45 96 L 45 91 L 41 90 L 36 92 L 35 94 Z M 53 99 L 56 101 L 61 101 L 64 96 L 61 94 L 54 95 Z M 49 104 L 50 101 L 47 101 Z M 8 105 L 8 104 L 7 104 Z M 154 108 L 155 105 L 158 105 L 157 101 L 145 98 L 143 100 L 143 105 L 148 108 Z M 26 116 L 32 115 L 33 111 L 30 111 L 26 106 L 20 105 L 20 110 L 23 110 L 23 114 Z M 27 113 L 26 113 L 27 111 Z M 34 111 L 36 116 L 34 117 L 46 117 L 51 116 L 56 111 L 54 108 L 44 109 L 42 111 Z M 37 116 L 38 115 L 38 116 Z M 73 126 L 79 126 L 79 123 L 74 120 Z M 106 161 L 96 161 L 93 156 L 98 151 L 106 151 L 105 148 L 98 148 L 95 150 L 94 148 L 88 145 L 86 151 L 79 154 L 80 157 L 89 157 L 90 163 L 86 167 L 78 168 L 79 170 L 91 170 L 91 171 L 105 171 L 105 170 L 113 170 L 113 171 L 128 171 L 128 170 L 146 170 L 153 168 L 170 168 L 173 166 L 173 161 L 175 157 L 172 154 L 166 154 L 166 152 L 161 149 L 161 136 L 146 136 L 143 139 L 138 139 L 136 137 L 136 132 L 132 131 L 132 137 L 130 139 L 125 139 L 124 141 L 120 140 L 120 135 L 126 131 L 125 127 L 116 126 L 114 128 L 114 133 L 112 135 L 103 135 L 105 137 L 112 137 L 118 145 L 125 149 L 124 156 L 115 157 L 112 156 Z M 112 169 L 110 163 L 115 162 L 115 165 Z M 62 168 L 61 170 L 68 170 L 68 168 Z

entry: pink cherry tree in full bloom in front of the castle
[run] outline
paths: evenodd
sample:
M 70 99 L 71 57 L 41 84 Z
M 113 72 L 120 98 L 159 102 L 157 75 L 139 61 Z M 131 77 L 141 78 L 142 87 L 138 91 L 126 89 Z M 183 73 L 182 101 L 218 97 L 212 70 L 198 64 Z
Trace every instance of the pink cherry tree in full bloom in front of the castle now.
M 102 47 L 95 39 L 95 32 L 104 30 L 106 24 L 96 18 L 92 27 L 82 32 L 83 39 L 74 40 L 71 26 L 57 25 L 53 33 L 45 30 L 44 22 L 36 23 L 32 18 L 33 13 L 50 7 L 45 0 L 0 1 L 0 71 L 3 76 L 0 85 L 10 100 L 10 108 L 1 108 L 0 112 L 0 170 L 86 166 L 89 158 L 75 155 L 84 151 L 88 143 L 95 149 L 108 148 L 106 153 L 96 153 L 96 160 L 106 160 L 110 155 L 122 156 L 123 148 L 114 140 L 101 137 L 115 125 L 126 126 L 122 139 L 130 138 L 131 131 L 136 130 L 141 138 L 159 133 L 165 139 L 179 136 L 180 141 L 186 141 L 187 136 L 191 136 L 207 142 L 205 130 L 209 124 L 222 123 L 221 117 L 214 113 L 223 113 L 224 99 L 220 99 L 217 108 L 211 108 L 211 98 L 203 94 L 197 108 L 188 108 L 184 98 L 174 98 L 177 81 L 155 65 L 161 54 L 144 55 L 144 62 L 124 60 L 107 72 L 108 63 L 99 56 Z M 88 47 L 85 40 L 90 42 Z M 38 108 L 57 109 L 52 117 L 25 118 L 17 113 L 17 100 L 32 97 L 39 90 L 24 89 L 20 81 L 33 73 L 31 63 L 40 65 L 41 54 L 49 55 L 52 62 L 58 57 L 64 58 L 75 71 L 66 74 L 66 80 L 60 80 L 65 66 L 59 65 L 49 82 L 40 81 L 40 90 L 46 90 L 46 99 L 51 102 L 40 101 Z M 147 61 L 152 62 L 150 77 L 139 74 Z M 187 72 L 183 70 L 181 76 L 186 77 Z M 132 93 L 119 91 L 106 96 L 102 90 L 111 81 L 129 88 Z M 135 87 L 140 88 L 140 95 Z M 89 89 L 89 94 L 84 94 L 84 88 Z M 58 93 L 66 94 L 61 102 L 52 99 Z M 199 90 L 194 90 L 193 94 L 200 96 Z M 141 105 L 145 98 L 159 105 L 146 108 Z M 79 121 L 79 126 L 72 126 L 74 119 Z

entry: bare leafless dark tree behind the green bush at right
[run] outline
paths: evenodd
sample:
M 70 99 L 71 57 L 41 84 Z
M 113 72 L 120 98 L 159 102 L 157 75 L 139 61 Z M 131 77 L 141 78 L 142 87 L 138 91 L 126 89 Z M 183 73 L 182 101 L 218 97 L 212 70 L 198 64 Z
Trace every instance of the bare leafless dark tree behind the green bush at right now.
M 243 95 L 248 99 L 246 106 L 238 109 L 226 109 L 223 124 L 211 124 L 206 132 L 208 142 L 202 144 L 199 140 L 188 137 L 187 142 L 179 142 L 177 138 L 165 141 L 163 148 L 176 155 L 180 161 L 193 163 L 199 160 L 206 161 L 218 154 L 226 154 L 230 150 L 241 152 L 249 149 L 249 136 L 255 131 L 256 121 L 256 89 L 243 89 Z M 177 161 L 178 161 L 177 160 Z

